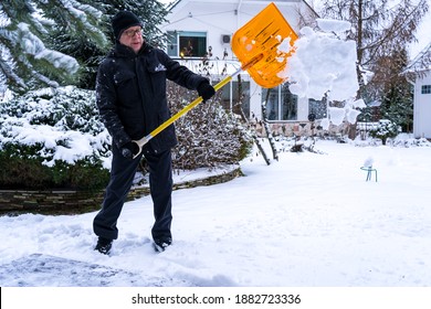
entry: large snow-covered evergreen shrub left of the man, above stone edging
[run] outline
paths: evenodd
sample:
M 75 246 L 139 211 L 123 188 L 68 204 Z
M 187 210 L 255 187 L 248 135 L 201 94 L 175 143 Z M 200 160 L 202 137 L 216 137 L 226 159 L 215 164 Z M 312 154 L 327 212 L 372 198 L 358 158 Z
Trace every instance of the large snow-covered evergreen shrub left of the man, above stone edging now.
M 94 92 L 44 88 L 0 105 L 0 185 L 101 189 L 111 138 Z

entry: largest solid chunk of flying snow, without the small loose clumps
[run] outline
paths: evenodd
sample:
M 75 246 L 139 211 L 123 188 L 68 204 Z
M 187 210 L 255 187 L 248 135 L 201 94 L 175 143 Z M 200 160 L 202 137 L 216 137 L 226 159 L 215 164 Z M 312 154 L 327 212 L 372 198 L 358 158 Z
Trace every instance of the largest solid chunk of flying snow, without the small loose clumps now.
M 346 100 L 359 88 L 356 75 L 356 43 L 318 33 L 306 26 L 295 42 L 296 51 L 288 58 L 291 92 L 299 97 Z

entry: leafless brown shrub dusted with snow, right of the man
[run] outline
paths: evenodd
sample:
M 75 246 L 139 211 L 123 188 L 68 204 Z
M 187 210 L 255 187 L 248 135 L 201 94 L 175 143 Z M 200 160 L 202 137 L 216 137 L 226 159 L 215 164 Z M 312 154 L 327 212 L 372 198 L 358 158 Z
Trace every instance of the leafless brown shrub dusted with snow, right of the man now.
M 168 83 L 168 100 L 172 114 L 181 110 L 198 96 L 174 83 Z M 201 103 L 176 121 L 178 146 L 172 151 L 174 168 L 212 168 L 233 164 L 245 158 L 252 139 L 232 113 L 219 104 L 219 94 L 208 103 Z

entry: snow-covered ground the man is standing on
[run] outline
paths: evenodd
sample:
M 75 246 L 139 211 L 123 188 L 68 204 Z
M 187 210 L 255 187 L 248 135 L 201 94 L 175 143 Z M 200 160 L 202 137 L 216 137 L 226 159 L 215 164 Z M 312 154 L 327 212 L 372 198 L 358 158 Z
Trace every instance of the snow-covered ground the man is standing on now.
M 245 177 L 175 191 L 161 254 L 149 196 L 125 204 L 111 256 L 93 251 L 95 213 L 2 216 L 0 286 L 430 286 L 431 147 L 315 149 L 271 166 L 249 158 Z M 377 182 L 360 170 L 371 160 Z

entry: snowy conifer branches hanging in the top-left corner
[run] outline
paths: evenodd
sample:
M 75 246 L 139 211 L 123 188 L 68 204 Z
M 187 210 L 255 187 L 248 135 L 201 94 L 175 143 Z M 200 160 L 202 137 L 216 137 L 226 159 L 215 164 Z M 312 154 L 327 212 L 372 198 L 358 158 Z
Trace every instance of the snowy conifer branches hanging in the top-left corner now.
M 78 62 L 52 47 L 52 34 L 80 35 L 98 46 L 101 10 L 75 0 L 2 0 L 0 2 L 0 75 L 9 88 L 24 93 L 38 86 L 76 81 Z

